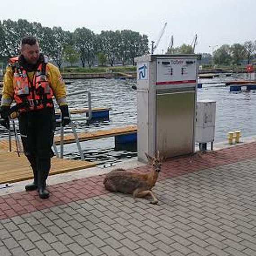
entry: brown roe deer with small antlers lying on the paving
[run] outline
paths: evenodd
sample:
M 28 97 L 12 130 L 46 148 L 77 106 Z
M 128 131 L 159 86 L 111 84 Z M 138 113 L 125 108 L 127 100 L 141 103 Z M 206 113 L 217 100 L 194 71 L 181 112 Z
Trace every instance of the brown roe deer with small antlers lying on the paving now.
M 159 152 L 157 157 L 151 157 L 148 154 L 146 156 L 152 165 L 150 172 L 128 172 L 124 169 L 112 170 L 106 174 L 103 181 L 106 190 L 132 194 L 133 198 L 150 195 L 153 198 L 151 203 L 157 203 L 157 198 L 154 196 L 151 188 L 154 186 L 161 169 Z

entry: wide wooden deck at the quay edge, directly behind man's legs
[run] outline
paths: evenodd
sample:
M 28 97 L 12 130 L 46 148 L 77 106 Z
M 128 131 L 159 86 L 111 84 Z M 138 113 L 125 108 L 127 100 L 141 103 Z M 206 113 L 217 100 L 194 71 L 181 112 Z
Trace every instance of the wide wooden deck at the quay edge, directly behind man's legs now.
M 21 156 L 18 157 L 17 152 L 0 151 L 0 163 L 0 184 L 24 181 L 33 178 L 30 164 L 24 154 L 21 154 Z M 96 166 L 96 163 L 53 157 L 49 175 L 71 172 L 94 166 Z

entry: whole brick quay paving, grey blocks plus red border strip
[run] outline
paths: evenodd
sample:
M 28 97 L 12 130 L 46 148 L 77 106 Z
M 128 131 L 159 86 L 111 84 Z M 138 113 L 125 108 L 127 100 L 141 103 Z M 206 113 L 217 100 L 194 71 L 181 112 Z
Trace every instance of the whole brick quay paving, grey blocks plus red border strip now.
M 0 196 L 0 256 L 256 256 L 255 142 L 163 163 L 157 205 L 103 178 Z

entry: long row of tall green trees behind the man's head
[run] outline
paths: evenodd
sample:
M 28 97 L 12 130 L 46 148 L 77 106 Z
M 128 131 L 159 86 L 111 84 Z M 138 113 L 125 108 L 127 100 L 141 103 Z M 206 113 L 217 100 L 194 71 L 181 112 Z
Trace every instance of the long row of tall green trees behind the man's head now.
M 59 68 L 64 60 L 72 66 L 77 57 L 75 52 L 79 54 L 83 67 L 86 63 L 89 67 L 93 66 L 100 52 L 106 55 L 110 66 L 120 61 L 123 65 L 134 65 L 134 57 L 148 53 L 147 36 L 135 31 L 102 31 L 100 35 L 95 35 L 82 27 L 72 33 L 63 31 L 61 27 L 43 27 L 40 23 L 25 19 L 17 22 L 8 19 L 0 21 L 0 58 L 5 60 L 17 56 L 20 41 L 26 35 L 37 37 L 42 52 Z

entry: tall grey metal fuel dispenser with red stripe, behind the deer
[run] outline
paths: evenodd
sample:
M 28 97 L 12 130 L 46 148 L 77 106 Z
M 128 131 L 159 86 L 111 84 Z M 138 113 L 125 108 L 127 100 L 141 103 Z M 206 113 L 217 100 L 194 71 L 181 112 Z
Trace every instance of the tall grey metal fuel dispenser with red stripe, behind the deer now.
M 194 152 L 197 55 L 145 55 L 137 62 L 137 150 L 166 158 Z

